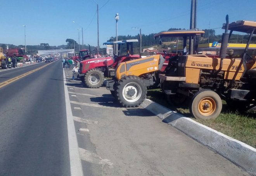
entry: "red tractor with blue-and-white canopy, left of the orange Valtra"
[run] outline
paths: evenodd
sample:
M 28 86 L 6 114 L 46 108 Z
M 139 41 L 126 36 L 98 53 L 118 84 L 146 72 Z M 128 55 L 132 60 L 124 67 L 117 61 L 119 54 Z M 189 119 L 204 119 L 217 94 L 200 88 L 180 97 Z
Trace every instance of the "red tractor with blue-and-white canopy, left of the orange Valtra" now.
M 121 44 L 126 43 L 126 48 L 131 48 L 129 56 L 108 56 L 105 58 L 91 58 L 80 62 L 79 77 L 81 81 L 89 88 L 99 88 L 103 82 L 104 77 L 114 77 L 115 68 L 121 62 L 126 62 L 140 58 L 139 55 L 133 55 L 133 42 L 138 42 L 137 39 L 107 42 L 104 44 Z

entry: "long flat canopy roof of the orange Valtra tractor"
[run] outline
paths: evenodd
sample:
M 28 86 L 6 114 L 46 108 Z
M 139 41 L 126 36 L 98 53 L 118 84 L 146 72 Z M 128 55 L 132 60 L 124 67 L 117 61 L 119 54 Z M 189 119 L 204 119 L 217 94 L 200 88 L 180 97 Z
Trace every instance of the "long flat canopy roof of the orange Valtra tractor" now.
M 197 28 L 195 29 L 189 29 L 189 30 L 176 30 L 176 31 L 164 31 L 159 32 L 154 35 L 154 38 L 162 38 L 162 37 L 190 37 L 190 36 L 196 36 L 199 34 L 204 34 L 204 31 L 201 31 Z

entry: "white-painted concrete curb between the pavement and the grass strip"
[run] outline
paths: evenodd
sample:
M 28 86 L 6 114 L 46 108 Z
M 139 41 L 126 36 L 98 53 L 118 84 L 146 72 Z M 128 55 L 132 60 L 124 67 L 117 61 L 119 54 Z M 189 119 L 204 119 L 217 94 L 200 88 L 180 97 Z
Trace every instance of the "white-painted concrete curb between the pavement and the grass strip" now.
M 141 106 L 163 119 L 164 123 L 177 128 L 237 166 L 242 167 L 247 173 L 256 176 L 255 148 L 190 118 L 183 117 L 182 114 L 171 111 L 149 99 L 145 99 Z

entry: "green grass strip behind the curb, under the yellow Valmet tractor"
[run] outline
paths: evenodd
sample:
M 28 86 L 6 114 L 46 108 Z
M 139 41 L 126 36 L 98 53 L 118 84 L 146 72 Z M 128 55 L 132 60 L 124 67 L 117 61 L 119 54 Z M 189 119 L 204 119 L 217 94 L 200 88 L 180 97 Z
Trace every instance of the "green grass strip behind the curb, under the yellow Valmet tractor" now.
M 166 95 L 160 89 L 148 90 L 147 98 L 192 118 L 188 106 L 173 106 L 169 104 L 166 100 Z M 222 111 L 218 118 L 214 120 L 192 119 L 256 148 L 256 112 L 239 113 L 228 109 L 225 101 L 222 101 L 222 104 Z

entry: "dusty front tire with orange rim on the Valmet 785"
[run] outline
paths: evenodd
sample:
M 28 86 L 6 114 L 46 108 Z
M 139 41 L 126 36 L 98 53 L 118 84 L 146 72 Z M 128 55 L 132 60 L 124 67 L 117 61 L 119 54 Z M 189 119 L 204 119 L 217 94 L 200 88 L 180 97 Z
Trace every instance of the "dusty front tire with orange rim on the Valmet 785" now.
M 200 120 L 215 119 L 220 115 L 222 102 L 220 96 L 211 90 L 202 90 L 192 97 L 189 110 Z

